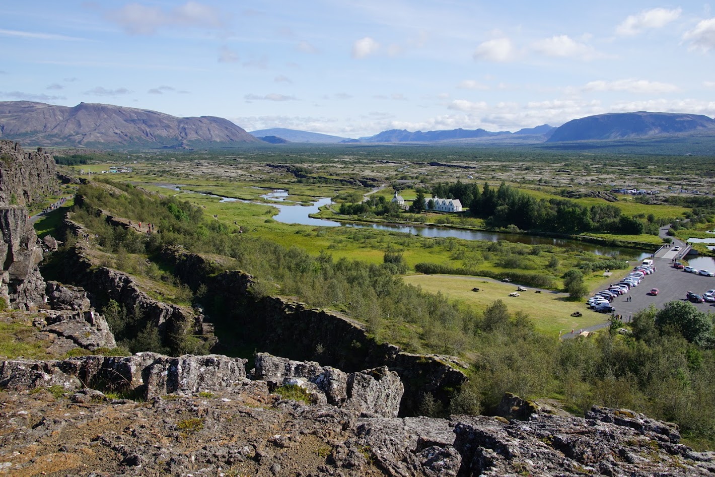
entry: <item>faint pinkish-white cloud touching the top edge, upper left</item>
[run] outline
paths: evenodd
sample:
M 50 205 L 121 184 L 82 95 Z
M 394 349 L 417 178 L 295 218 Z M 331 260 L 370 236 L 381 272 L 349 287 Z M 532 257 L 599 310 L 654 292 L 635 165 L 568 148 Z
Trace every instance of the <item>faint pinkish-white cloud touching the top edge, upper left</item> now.
M 220 11 L 197 1 L 187 1 L 167 10 L 134 2 L 124 5 L 121 9 L 108 11 L 104 17 L 119 24 L 129 34 L 154 34 L 162 26 L 194 26 L 207 29 L 223 26 Z

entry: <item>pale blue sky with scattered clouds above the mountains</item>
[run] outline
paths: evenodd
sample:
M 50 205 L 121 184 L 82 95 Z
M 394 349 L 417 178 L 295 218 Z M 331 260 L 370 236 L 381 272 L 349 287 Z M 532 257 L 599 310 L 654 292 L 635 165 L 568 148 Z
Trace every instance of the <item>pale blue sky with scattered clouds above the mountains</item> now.
M 715 12 L 692 1 L 29 0 L 0 6 L 0 41 L 0 100 L 212 115 L 249 131 L 715 116 Z

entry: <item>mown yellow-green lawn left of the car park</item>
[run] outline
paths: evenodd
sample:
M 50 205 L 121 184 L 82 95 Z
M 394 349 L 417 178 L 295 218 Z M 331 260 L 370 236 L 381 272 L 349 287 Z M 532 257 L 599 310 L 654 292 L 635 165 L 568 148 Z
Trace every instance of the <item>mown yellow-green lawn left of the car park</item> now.
M 494 300 L 503 300 L 513 313 L 521 311 L 533 320 L 536 329 L 548 335 L 558 336 L 559 331 L 571 332 L 571 329 L 586 328 L 604 323 L 609 315 L 588 310 L 583 300 L 568 301 L 566 293 L 542 292 L 533 289 L 520 292 L 518 297 L 510 297 L 516 291 L 516 285 L 490 282 L 480 277 L 457 277 L 453 275 L 407 275 L 403 280 L 412 285 L 419 285 L 427 292 L 441 292 L 450 300 L 463 306 L 483 311 Z M 472 288 L 479 288 L 473 292 Z M 571 316 L 574 311 L 581 311 L 583 316 Z

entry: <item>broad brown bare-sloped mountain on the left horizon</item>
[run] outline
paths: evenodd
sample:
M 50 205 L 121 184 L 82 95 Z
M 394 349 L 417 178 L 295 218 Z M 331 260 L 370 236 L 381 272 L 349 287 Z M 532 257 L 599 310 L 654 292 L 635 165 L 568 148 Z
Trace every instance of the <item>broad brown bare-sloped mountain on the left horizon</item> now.
M 0 102 L 0 138 L 41 145 L 189 147 L 261 142 L 228 119 L 79 103 Z

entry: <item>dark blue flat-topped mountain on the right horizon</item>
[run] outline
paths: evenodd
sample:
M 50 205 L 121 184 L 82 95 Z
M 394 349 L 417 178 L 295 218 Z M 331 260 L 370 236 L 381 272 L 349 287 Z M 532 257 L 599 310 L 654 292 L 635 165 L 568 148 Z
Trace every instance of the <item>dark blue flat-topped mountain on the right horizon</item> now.
M 715 134 L 715 119 L 702 114 L 608 113 L 573 119 L 558 127 L 548 142 L 636 139 L 697 132 Z

